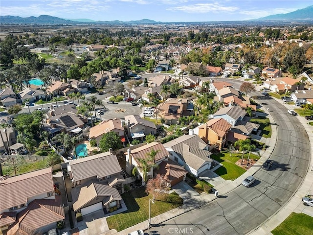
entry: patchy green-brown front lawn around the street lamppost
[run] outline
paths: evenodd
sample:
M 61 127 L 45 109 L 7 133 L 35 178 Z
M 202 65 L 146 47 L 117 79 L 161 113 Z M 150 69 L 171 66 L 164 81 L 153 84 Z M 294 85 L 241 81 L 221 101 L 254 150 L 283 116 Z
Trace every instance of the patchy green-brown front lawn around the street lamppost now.
M 151 203 L 151 217 L 182 205 L 182 199 L 176 193 L 173 197 L 177 199 L 178 203 L 156 200 L 154 204 Z M 118 232 L 149 219 L 149 198 L 152 196 L 147 195 L 144 188 L 137 188 L 122 194 L 122 198 L 128 210 L 107 218 L 109 228 L 116 229 Z

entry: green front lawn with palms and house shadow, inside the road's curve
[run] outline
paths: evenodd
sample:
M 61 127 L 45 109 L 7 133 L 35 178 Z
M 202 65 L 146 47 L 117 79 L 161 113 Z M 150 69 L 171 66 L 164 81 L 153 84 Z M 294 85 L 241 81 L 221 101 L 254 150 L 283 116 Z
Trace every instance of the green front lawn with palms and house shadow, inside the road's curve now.
M 246 170 L 235 163 L 240 160 L 242 157 L 241 153 L 232 153 L 230 157 L 230 153 L 218 153 L 212 154 L 211 158 L 219 163 L 222 163 L 223 166 L 217 168 L 214 172 L 221 176 L 224 180 L 235 180 L 242 174 L 246 172 Z M 245 158 L 248 157 L 248 154 L 245 154 Z M 260 159 L 257 155 L 250 154 L 251 159 Z

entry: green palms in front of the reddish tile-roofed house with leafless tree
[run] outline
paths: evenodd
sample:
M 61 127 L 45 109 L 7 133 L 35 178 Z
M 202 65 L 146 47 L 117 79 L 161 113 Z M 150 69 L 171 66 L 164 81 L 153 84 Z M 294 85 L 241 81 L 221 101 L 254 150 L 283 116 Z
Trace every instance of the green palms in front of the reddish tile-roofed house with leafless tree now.
M 150 169 L 158 168 L 158 164 L 155 163 L 156 154 L 159 150 L 154 150 L 153 148 L 149 153 L 146 154 L 147 158 L 138 158 L 138 165 L 133 168 L 132 174 L 136 175 L 138 172 L 138 169 L 142 172 L 142 179 L 144 182 L 147 182 L 147 174 L 150 171 Z

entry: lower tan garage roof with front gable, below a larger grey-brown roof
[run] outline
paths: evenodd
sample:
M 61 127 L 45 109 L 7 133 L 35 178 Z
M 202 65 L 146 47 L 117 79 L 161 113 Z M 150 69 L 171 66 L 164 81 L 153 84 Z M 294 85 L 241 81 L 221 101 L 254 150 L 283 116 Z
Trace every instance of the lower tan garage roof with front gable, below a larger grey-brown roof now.
M 71 193 L 74 202 L 74 211 L 84 208 L 87 203 L 96 197 L 106 198 L 105 205 L 110 203 L 112 200 L 122 200 L 122 197 L 116 188 L 110 187 L 109 185 L 98 181 L 89 181 L 79 188 L 73 188 Z

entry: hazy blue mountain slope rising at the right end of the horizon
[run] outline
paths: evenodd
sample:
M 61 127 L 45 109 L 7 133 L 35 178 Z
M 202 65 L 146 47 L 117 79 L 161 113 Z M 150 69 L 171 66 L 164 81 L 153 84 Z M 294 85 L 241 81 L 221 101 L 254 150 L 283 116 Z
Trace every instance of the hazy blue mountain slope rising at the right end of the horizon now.
M 277 14 L 256 19 L 258 21 L 294 21 L 294 20 L 313 20 L 313 5 L 286 14 Z

